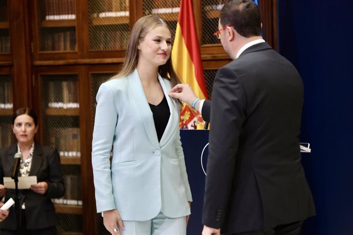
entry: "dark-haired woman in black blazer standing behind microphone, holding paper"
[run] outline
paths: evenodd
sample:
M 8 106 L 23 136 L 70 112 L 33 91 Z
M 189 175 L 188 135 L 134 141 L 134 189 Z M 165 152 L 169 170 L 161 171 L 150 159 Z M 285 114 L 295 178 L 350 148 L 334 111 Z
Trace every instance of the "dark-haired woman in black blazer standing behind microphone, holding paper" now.
M 13 115 L 12 130 L 17 143 L 0 150 L 0 197 L 5 197 L 5 201 L 15 198 L 15 190 L 4 187 L 4 177 L 11 177 L 14 155 L 20 153 L 18 176 L 37 176 L 38 182 L 18 192 L 21 231 L 26 235 L 56 234 L 57 218 L 51 199 L 64 194 L 60 157 L 56 149 L 35 143 L 37 122 L 37 115 L 30 108 L 17 109 Z M 17 234 L 14 206 L 0 228 L 2 235 Z

